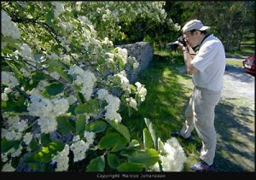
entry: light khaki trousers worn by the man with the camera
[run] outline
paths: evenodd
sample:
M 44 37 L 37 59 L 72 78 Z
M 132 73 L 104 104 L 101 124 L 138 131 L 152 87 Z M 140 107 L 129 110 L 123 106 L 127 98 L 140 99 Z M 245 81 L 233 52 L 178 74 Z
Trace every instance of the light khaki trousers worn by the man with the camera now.
M 185 112 L 186 121 L 180 131 L 180 134 L 187 138 L 195 128 L 202 141 L 200 159 L 207 165 L 213 164 L 215 156 L 217 136 L 214 128 L 214 109 L 220 100 L 220 94 L 195 86 Z

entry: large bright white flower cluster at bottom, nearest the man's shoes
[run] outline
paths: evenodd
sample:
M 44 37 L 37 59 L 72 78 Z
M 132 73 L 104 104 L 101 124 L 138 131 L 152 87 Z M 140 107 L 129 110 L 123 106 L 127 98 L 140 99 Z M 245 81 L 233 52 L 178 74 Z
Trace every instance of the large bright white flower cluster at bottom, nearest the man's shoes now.
M 177 142 L 177 138 L 172 137 L 165 142 L 164 151 L 160 154 L 163 171 L 182 171 L 183 163 L 186 159 L 183 148 Z

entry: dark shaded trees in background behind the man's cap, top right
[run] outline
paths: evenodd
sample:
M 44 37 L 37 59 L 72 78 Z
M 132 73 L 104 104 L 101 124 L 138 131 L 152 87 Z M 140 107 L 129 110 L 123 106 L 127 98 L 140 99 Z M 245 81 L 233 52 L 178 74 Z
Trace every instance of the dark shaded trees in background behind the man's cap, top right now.
M 241 49 L 241 41 L 255 32 L 255 2 L 172 2 L 166 3 L 167 15 L 183 26 L 192 19 L 201 20 L 211 26 L 209 32 L 220 38 L 226 51 Z M 254 41 L 255 44 L 255 41 Z

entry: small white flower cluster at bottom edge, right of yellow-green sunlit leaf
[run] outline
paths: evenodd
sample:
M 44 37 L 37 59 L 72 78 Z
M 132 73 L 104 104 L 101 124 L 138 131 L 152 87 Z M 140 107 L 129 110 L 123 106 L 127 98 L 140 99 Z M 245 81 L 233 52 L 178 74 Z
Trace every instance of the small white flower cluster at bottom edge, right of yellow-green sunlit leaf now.
M 66 144 L 64 149 L 52 158 L 53 162 L 57 162 L 55 171 L 67 171 L 69 161 L 68 154 L 69 146 Z

